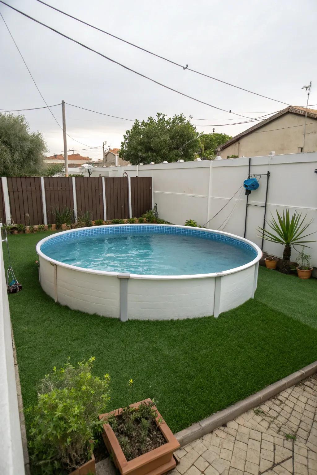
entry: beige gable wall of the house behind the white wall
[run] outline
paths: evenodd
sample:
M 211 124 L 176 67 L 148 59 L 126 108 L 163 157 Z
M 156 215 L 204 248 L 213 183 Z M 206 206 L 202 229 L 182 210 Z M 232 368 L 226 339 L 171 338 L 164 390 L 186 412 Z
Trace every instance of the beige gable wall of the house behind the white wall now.
M 276 155 L 297 153 L 298 148 L 303 146 L 304 124 L 304 115 L 291 113 L 281 115 L 258 130 L 241 137 L 237 142 L 222 150 L 220 155 L 222 158 L 227 158 L 228 155 L 261 157 L 269 155 L 272 150 Z M 316 151 L 317 119 L 307 117 L 305 152 Z

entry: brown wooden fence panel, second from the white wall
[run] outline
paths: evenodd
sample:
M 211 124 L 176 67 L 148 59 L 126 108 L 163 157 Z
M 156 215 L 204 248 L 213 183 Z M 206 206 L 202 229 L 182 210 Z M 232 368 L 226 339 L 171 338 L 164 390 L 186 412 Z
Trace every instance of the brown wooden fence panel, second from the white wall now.
M 105 178 L 107 219 L 129 217 L 128 179 Z

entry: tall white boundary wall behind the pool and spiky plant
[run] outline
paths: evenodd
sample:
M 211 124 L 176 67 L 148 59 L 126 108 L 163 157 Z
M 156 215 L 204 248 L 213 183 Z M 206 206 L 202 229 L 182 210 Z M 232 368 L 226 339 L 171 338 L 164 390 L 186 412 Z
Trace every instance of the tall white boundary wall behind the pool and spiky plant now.
M 159 216 L 173 224 L 184 224 L 194 219 L 203 225 L 214 216 L 248 178 L 249 157 L 231 160 L 193 161 L 182 163 L 160 163 L 122 167 L 98 167 L 92 176 L 152 176 L 153 199 L 157 203 Z M 270 172 L 267 219 L 271 212 L 296 209 L 307 219 L 314 219 L 307 232 L 317 230 L 317 152 L 290 153 L 265 157 L 251 157 L 250 174 Z M 79 169 L 72 172 L 79 172 Z M 264 205 L 266 191 L 265 176 L 260 179 L 258 190 L 252 191 L 249 203 Z M 241 191 L 241 190 L 240 190 Z M 246 209 L 244 191 L 213 218 L 206 227 L 224 230 L 243 236 Z M 238 199 L 240 196 L 240 199 Z M 232 212 L 232 214 L 231 214 Z M 228 222 L 226 219 L 230 216 Z M 246 238 L 261 246 L 257 228 L 263 226 L 264 208 L 248 207 Z M 311 239 L 317 239 L 317 234 Z M 308 238 L 309 239 L 309 238 Z M 307 252 L 317 267 L 317 243 L 311 243 Z M 263 251 L 282 257 L 283 247 L 264 241 Z M 297 252 L 292 249 L 291 258 Z

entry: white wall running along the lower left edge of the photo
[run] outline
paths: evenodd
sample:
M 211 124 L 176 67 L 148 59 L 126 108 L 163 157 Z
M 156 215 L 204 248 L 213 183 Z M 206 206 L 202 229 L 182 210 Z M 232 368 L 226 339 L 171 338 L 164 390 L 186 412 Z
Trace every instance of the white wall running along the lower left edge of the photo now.
M 0 474 L 25 474 L 2 246 L 0 249 Z

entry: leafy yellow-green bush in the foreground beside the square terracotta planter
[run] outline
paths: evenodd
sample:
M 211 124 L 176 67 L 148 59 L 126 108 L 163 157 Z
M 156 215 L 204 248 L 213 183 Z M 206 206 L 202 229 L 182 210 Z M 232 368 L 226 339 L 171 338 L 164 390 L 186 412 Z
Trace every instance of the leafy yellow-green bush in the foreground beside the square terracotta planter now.
M 102 431 L 98 415 L 110 400 L 108 374 L 91 374 L 93 361 L 54 367 L 38 386 L 38 403 L 28 412 L 29 456 L 32 474 L 67 475 L 91 458 L 96 436 Z

